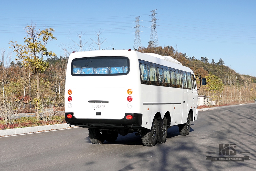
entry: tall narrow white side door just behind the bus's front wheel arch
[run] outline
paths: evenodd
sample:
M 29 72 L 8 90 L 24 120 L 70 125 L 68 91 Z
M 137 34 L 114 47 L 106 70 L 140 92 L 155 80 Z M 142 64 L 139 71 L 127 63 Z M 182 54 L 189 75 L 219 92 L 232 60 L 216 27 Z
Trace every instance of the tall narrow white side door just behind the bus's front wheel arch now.
M 182 77 L 182 89 L 183 89 L 183 113 L 182 113 L 182 123 L 186 123 L 188 116 L 188 82 L 187 74 L 184 71 L 181 71 Z

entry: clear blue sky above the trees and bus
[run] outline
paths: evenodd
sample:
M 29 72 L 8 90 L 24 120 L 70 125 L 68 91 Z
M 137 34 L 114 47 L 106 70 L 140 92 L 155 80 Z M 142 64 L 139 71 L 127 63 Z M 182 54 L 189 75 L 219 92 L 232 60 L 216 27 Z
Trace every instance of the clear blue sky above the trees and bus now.
M 72 47 L 83 34 L 83 50 L 94 50 L 99 30 L 101 49 L 132 49 L 135 17 L 141 16 L 140 39 L 147 47 L 151 34 L 151 11 L 156 10 L 160 46 L 209 58 L 241 74 L 256 76 L 256 1 L 3 1 L 0 10 L 0 48 L 9 41 L 24 44 L 24 28 L 54 28 L 57 40 L 47 50 L 64 56 L 61 47 Z M 94 47 L 93 47 L 94 45 Z M 78 47 L 76 47 L 78 48 Z M 73 48 L 74 49 L 74 48 Z M 13 59 L 15 59 L 13 53 Z

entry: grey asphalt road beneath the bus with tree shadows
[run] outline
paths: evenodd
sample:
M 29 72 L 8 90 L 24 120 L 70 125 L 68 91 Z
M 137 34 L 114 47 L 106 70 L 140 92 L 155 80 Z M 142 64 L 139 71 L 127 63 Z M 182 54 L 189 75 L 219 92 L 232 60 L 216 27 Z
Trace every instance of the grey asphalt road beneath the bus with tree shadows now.
M 154 147 L 142 146 L 134 133 L 93 145 L 87 128 L 1 137 L 0 170 L 256 170 L 255 111 L 254 103 L 198 112 L 188 136 L 173 126 L 167 141 Z M 228 144 L 229 154 L 219 155 L 219 144 Z

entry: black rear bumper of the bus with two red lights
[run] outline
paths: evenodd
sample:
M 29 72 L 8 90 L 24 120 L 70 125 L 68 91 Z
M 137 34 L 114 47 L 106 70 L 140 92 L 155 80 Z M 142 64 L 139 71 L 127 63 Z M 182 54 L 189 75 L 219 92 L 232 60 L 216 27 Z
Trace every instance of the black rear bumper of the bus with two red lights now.
M 71 114 L 72 118 L 68 118 L 67 115 Z M 126 119 L 127 115 L 132 115 L 133 118 Z M 73 116 L 73 113 L 65 112 L 65 120 L 67 124 L 80 126 L 80 127 L 97 127 L 102 129 L 118 129 L 118 128 L 141 128 L 142 113 L 125 113 L 123 119 L 77 119 Z

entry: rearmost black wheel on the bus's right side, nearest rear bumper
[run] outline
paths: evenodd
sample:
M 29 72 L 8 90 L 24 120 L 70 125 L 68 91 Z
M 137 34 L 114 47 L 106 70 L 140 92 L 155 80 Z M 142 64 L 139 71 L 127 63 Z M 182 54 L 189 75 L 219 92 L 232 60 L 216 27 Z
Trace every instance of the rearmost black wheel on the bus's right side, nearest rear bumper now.
M 158 126 L 157 126 L 157 120 L 154 118 L 154 121 L 152 123 L 151 130 L 141 130 L 141 140 L 142 144 L 144 146 L 154 146 L 157 142 L 157 134 L 158 134 Z

